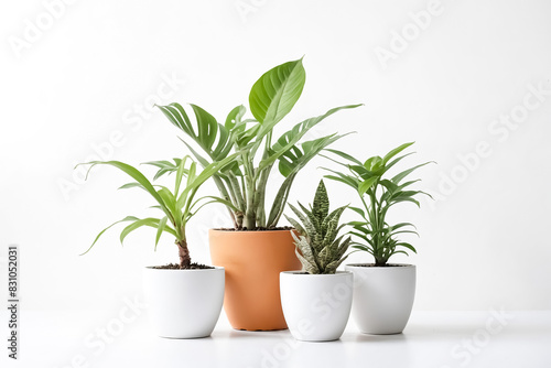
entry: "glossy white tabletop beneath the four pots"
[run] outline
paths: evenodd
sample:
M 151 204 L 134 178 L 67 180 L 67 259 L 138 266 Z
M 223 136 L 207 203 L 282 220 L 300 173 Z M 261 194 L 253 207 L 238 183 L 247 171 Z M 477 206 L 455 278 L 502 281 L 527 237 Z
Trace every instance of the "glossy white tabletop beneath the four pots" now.
M 141 312 L 120 322 L 112 311 L 22 311 L 19 360 L 3 347 L 1 367 L 551 367 L 551 311 L 413 311 L 403 334 L 387 336 L 360 334 L 350 320 L 331 343 L 235 331 L 224 314 L 208 338 L 166 339 Z

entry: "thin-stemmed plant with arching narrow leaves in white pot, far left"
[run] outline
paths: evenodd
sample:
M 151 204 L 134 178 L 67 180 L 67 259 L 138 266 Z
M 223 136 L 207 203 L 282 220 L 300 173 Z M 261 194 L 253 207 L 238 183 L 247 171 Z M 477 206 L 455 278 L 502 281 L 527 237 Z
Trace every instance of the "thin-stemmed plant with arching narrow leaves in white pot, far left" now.
M 91 170 L 96 165 L 110 165 L 131 176 L 133 182 L 121 188 L 138 187 L 149 193 L 155 201 L 155 209 L 162 213 L 159 217 L 138 218 L 128 216 L 101 230 L 91 246 L 110 227 L 119 223 L 130 223 L 120 234 L 120 241 L 133 230 L 148 226 L 156 229 L 155 249 L 163 234 L 175 238 L 180 261 L 175 264 L 147 267 L 143 273 L 144 294 L 149 304 L 149 315 L 153 329 L 159 336 L 171 338 L 206 337 L 213 332 L 222 311 L 224 301 L 225 273 L 222 267 L 209 267 L 193 263 L 186 239 L 186 225 L 206 203 L 203 197 L 195 199 L 199 186 L 220 167 L 235 159 L 207 165 L 201 173 L 197 164 L 186 156 L 183 160 L 149 162 L 155 166 L 171 166 L 176 170 L 174 191 L 166 186 L 153 185 L 136 167 L 119 161 L 89 162 Z M 88 170 L 88 172 L 89 172 Z M 156 173 L 155 178 L 163 173 Z M 203 202 L 202 202 L 203 201 Z M 214 201 L 210 198 L 210 202 Z M 85 252 L 85 253 L 86 253 Z

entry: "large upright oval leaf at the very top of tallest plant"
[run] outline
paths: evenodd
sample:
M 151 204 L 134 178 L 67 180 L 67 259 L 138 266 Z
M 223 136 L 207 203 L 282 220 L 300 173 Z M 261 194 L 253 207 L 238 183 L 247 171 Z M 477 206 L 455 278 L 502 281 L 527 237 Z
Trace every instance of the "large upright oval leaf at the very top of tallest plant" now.
M 252 86 L 249 106 L 260 123 L 278 123 L 288 115 L 299 98 L 306 82 L 302 58 L 276 66 L 266 72 Z M 263 137 L 263 134 L 262 134 Z

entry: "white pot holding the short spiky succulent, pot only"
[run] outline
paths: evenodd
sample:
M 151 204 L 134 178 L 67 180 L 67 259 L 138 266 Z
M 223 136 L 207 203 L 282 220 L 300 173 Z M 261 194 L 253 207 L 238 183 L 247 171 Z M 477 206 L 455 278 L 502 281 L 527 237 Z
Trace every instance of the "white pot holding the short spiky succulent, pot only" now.
M 343 335 L 352 307 L 354 275 L 280 273 L 281 305 L 294 338 L 329 342 Z

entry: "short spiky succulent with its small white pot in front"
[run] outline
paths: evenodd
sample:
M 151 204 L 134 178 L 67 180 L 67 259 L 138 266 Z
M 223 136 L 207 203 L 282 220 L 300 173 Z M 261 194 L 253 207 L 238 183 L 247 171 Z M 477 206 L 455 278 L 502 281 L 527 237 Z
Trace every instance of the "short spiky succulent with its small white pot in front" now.
M 329 213 L 329 199 L 320 182 L 311 209 L 293 207 L 302 225 L 289 218 L 302 271 L 281 272 L 281 304 L 294 338 L 305 342 L 335 340 L 343 335 L 352 307 L 354 275 L 337 271 L 347 258 L 350 237 L 338 237 L 338 220 L 347 206 Z

